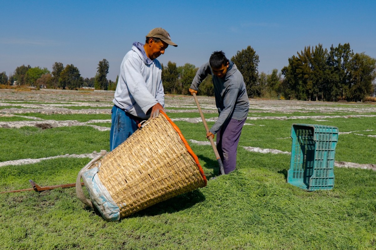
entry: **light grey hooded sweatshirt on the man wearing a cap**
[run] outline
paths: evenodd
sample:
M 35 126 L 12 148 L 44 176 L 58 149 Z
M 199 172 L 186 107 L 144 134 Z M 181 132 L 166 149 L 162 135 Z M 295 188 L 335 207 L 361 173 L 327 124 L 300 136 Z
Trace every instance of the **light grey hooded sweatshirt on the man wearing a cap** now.
M 147 111 L 158 102 L 164 106 L 162 66 L 158 60 L 146 56 L 144 44 L 133 43 L 132 50 L 120 66 L 120 76 L 112 100 L 116 106 L 131 115 L 147 119 Z

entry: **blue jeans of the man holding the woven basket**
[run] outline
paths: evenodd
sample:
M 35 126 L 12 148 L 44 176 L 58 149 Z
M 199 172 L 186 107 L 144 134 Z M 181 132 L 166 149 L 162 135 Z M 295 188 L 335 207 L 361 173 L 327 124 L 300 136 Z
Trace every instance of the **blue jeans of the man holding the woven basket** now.
M 111 110 L 110 151 L 122 144 L 137 130 L 137 117 L 114 105 Z

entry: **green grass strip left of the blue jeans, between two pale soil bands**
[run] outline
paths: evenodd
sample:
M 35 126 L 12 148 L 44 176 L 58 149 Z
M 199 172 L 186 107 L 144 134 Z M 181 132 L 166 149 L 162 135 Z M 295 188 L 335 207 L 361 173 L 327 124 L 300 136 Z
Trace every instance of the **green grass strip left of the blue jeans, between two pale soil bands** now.
M 0 162 L 99 152 L 102 149 L 109 151 L 109 131 L 100 132 L 89 126 L 44 130 L 36 127 L 0 128 L 0 145 Z

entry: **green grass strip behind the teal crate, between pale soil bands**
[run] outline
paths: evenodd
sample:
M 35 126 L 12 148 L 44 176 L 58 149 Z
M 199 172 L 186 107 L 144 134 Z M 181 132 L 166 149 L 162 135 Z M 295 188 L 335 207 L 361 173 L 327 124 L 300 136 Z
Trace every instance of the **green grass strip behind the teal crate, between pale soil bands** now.
M 370 127 L 376 127 L 374 118 L 348 118 L 346 122 L 343 119 L 334 118 L 334 121 L 320 122 L 326 126 L 337 126 L 340 132 L 350 132 L 356 130 L 367 130 Z M 247 121 L 248 122 L 248 121 Z M 293 123 L 317 124 L 317 121 L 306 120 L 252 120 L 255 125 L 244 126 L 239 145 L 245 147 L 271 148 L 281 151 L 291 152 L 291 126 Z M 185 135 L 186 139 L 196 141 L 206 141 L 205 128 L 202 123 L 188 124 L 183 121 L 176 121 L 177 126 Z M 214 123 L 209 122 L 211 127 Z M 259 126 L 263 125 L 263 126 Z M 359 132 L 367 134 L 367 132 Z M 372 132 L 368 132 L 372 133 Z M 374 132 L 373 132 L 374 133 Z M 286 139 L 287 138 L 287 139 Z M 373 145 L 374 137 L 359 136 L 353 133 L 339 135 L 335 160 L 345 162 L 356 162 L 360 164 L 376 163 L 376 147 L 364 147 L 364 145 Z M 356 153 L 354 153 L 356 152 Z

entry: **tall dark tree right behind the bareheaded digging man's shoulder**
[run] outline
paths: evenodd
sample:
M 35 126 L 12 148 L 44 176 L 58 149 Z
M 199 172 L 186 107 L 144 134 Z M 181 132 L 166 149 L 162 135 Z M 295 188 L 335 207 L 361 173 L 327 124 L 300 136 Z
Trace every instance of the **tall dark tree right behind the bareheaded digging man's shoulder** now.
M 236 64 L 238 70 L 243 75 L 248 96 L 260 96 L 261 91 L 257 85 L 258 64 L 260 60 L 256 51 L 251 46 L 248 46 L 246 49 L 238 51 L 236 55 L 231 57 L 231 61 Z

